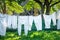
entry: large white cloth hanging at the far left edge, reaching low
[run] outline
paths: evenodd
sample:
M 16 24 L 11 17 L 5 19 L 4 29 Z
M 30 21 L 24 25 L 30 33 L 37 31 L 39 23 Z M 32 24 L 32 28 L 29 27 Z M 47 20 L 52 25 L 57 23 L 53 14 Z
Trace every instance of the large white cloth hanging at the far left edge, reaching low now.
M 0 15 L 0 35 L 5 36 L 6 34 L 6 18 L 4 15 Z

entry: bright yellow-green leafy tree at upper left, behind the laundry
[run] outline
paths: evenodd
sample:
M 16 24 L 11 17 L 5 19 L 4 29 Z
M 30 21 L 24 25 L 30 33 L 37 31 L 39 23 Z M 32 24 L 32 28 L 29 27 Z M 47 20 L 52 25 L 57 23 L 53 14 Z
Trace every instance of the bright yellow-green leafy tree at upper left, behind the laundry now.
M 16 0 L 0 0 L 0 11 L 5 14 L 20 14 L 24 12 L 23 7 Z

